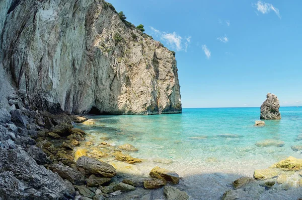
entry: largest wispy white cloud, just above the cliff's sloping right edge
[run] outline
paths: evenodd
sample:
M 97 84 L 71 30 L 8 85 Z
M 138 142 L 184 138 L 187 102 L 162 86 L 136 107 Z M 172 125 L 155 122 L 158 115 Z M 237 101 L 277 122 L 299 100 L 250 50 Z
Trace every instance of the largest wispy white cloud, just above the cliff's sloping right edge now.
M 185 50 L 187 52 L 187 48 L 189 43 L 191 42 L 191 36 L 185 38 L 185 42 L 183 42 L 183 38 L 178 35 L 176 32 L 173 33 L 166 33 L 163 31 L 160 31 L 154 27 L 150 27 L 153 34 L 160 37 L 160 39 L 166 41 L 172 48 L 175 48 L 177 51 Z M 185 47 L 183 49 L 183 46 Z

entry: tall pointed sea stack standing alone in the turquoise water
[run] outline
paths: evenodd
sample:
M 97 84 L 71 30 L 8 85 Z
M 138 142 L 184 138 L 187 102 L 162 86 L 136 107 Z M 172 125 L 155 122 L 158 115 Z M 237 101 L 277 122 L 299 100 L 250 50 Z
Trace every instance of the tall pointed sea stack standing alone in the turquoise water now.
M 260 119 L 281 119 L 279 100 L 274 94 L 267 93 L 266 100 L 260 108 Z

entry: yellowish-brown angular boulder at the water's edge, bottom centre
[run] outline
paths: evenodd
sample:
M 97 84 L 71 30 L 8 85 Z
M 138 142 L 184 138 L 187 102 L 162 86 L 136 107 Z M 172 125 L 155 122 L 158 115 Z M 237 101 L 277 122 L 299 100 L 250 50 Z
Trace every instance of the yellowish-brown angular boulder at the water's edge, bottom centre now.
M 179 175 L 176 172 L 160 167 L 153 168 L 150 171 L 149 175 L 152 178 L 162 179 L 165 181 L 172 182 L 173 184 L 177 184 L 179 182 Z

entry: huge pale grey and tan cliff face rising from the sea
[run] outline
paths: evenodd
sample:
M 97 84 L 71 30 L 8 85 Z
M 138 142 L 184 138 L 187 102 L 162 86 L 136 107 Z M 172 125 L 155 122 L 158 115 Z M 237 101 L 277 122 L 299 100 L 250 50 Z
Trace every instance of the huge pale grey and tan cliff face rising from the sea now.
M 182 110 L 173 53 L 102 0 L 1 1 L 0 34 L 2 82 L 21 91 L 33 109 Z

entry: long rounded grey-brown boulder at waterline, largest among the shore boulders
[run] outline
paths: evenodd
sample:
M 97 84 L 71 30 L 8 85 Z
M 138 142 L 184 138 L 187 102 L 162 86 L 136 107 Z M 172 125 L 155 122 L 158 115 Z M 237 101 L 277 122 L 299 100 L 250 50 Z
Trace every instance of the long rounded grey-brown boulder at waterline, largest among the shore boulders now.
M 87 156 L 82 156 L 77 160 L 77 167 L 87 174 L 108 178 L 116 175 L 115 168 L 112 165 Z

